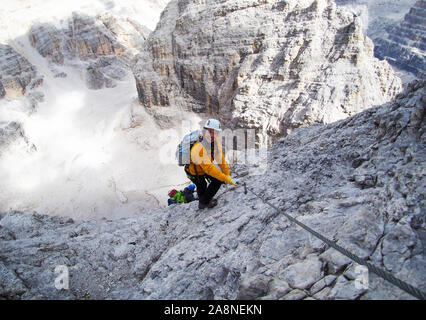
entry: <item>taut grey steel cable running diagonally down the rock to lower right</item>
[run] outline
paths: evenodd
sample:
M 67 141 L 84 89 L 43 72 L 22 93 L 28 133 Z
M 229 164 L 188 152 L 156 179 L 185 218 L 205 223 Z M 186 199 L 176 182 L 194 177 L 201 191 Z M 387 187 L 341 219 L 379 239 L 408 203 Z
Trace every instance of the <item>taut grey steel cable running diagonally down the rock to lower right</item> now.
M 308 231 L 309 233 L 313 234 L 315 237 L 317 237 L 318 239 L 322 240 L 323 242 L 325 242 L 326 244 L 328 244 L 330 247 L 336 249 L 337 251 L 339 251 L 340 253 L 342 253 L 343 255 L 347 256 L 348 258 L 352 259 L 353 261 L 357 262 L 360 265 L 364 265 L 368 268 L 369 271 L 374 272 L 375 274 L 377 274 L 379 277 L 385 279 L 386 281 L 392 283 L 393 285 L 397 286 L 398 288 L 400 288 L 401 290 L 407 292 L 408 294 L 416 297 L 417 299 L 420 300 L 425 300 L 425 293 L 422 292 L 421 290 L 417 289 L 416 287 L 413 287 L 412 285 L 398 279 L 395 278 L 393 275 L 391 275 L 390 273 L 377 268 L 376 266 L 368 263 L 367 261 L 365 261 L 364 259 L 356 256 L 355 254 L 353 254 L 352 252 L 349 252 L 348 250 L 346 250 L 345 248 L 339 246 L 338 244 L 336 244 L 334 241 L 331 241 L 330 239 L 327 239 L 326 237 L 324 237 L 323 235 L 319 234 L 318 232 L 316 232 L 315 230 L 312 230 L 311 228 L 309 228 L 307 225 L 303 224 L 302 222 L 298 221 L 297 219 L 293 218 L 292 216 L 288 215 L 287 213 L 284 212 L 284 210 L 280 210 L 278 209 L 276 206 L 274 206 L 273 204 L 269 203 L 268 201 L 264 200 L 262 197 L 260 197 L 259 195 L 257 195 L 253 190 L 251 190 L 250 188 L 247 188 L 246 184 L 243 184 L 244 186 L 244 193 L 247 193 L 247 190 L 249 190 L 251 193 L 253 193 L 257 198 L 259 198 L 260 200 L 262 200 L 264 203 L 266 203 L 267 205 L 271 206 L 272 208 L 274 208 L 278 213 L 282 213 L 287 219 L 289 219 L 291 222 L 296 223 L 297 225 L 299 225 L 300 227 L 302 227 L 303 229 L 305 229 L 306 231 Z

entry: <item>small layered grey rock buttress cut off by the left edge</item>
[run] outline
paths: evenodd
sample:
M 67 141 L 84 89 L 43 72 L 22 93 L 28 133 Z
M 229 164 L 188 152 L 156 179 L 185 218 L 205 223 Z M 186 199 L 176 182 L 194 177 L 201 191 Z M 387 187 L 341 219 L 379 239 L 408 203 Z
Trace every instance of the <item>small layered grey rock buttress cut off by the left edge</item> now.
M 0 44 L 0 98 L 20 98 L 43 83 L 36 68 L 12 47 Z

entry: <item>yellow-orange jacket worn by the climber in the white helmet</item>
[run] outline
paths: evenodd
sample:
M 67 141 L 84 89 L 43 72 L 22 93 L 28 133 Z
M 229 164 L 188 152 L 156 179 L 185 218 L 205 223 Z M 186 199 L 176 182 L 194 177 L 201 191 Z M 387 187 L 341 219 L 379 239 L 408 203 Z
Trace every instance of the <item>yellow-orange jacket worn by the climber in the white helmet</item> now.
M 229 168 L 225 162 L 219 139 L 215 139 L 214 146 L 214 160 L 216 160 L 219 167 L 213 163 L 211 150 L 206 149 L 203 143 L 196 142 L 191 148 L 191 163 L 188 165 L 187 170 L 194 176 L 197 174 L 208 174 L 220 181 L 230 183 L 231 177 Z

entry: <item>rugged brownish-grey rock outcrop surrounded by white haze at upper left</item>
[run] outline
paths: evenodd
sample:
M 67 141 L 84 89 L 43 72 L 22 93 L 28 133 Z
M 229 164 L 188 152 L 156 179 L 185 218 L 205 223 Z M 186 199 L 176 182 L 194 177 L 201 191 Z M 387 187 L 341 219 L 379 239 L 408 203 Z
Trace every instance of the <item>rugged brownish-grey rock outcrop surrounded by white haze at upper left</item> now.
M 140 50 L 149 30 L 132 19 L 110 14 L 97 17 L 76 13 L 62 29 L 52 24 L 34 25 L 31 45 L 56 65 L 78 59 L 86 68 L 91 89 L 112 87 L 129 72 L 134 51 Z M 65 76 L 58 72 L 57 76 Z

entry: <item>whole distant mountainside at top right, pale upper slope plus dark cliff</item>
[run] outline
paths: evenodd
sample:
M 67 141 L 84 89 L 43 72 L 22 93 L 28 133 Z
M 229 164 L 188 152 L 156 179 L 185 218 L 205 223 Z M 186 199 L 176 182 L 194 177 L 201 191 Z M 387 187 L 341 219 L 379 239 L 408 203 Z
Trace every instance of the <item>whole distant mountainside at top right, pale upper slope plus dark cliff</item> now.
M 391 65 L 424 79 L 426 72 L 426 1 L 336 0 L 367 21 L 374 54 Z M 412 77 L 407 77 L 408 79 Z

